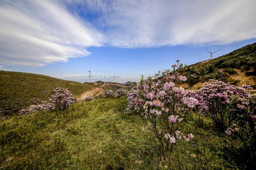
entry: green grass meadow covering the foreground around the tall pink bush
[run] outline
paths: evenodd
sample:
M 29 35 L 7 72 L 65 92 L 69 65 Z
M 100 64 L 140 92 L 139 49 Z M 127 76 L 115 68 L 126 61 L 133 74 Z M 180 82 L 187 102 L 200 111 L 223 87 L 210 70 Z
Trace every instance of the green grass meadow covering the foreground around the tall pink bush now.
M 196 170 L 243 169 L 241 144 L 192 114 L 182 141 L 166 159 L 147 142 L 136 115 L 125 115 L 125 98 L 75 103 L 64 111 L 0 120 L 3 170 Z M 100 151 L 102 151 L 100 153 Z M 191 154 L 195 154 L 193 158 Z M 239 161 L 240 160 L 240 161 Z

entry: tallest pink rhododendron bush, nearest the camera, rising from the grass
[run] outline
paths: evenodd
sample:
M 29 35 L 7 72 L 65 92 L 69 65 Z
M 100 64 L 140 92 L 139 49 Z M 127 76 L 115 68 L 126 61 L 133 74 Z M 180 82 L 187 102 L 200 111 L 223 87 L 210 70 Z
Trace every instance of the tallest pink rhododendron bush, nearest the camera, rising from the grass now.
M 167 70 L 160 77 L 160 73 L 156 74 L 156 79 L 148 77 L 144 80 L 142 77 L 127 95 L 125 113 L 139 114 L 145 120 L 142 130 L 163 155 L 171 152 L 178 142 L 194 137 L 192 133 L 183 134 L 180 131 L 184 119 L 198 104 L 197 99 L 179 87 L 186 80 L 181 73 L 180 68 L 173 72 Z

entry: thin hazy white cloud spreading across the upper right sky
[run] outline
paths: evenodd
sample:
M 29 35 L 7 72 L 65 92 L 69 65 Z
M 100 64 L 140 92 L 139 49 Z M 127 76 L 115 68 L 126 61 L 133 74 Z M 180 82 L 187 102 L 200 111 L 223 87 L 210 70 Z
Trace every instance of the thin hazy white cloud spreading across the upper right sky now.
M 252 0 L 87 0 L 107 43 L 126 48 L 227 44 L 256 37 Z

